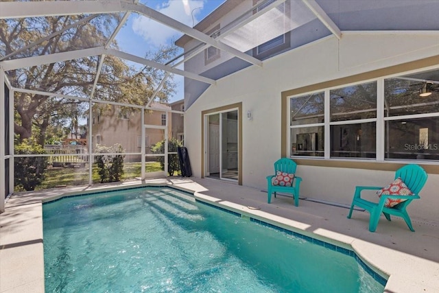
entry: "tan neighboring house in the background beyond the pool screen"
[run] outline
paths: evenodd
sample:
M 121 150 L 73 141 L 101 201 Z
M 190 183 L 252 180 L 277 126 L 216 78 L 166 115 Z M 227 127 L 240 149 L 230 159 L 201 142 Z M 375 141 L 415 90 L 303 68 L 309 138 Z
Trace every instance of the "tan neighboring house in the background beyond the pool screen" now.
M 171 110 L 171 107 L 159 103 L 152 103 L 150 107 L 158 110 L 145 110 L 143 124 L 139 108 L 130 108 L 128 111 L 119 106 L 93 109 L 93 150 L 97 144 L 110 147 L 120 143 L 126 153 L 134 153 L 130 156 L 131 161 L 139 161 L 141 156 L 135 153 L 141 152 L 141 131 L 145 125 L 145 153 L 152 153 L 150 148 L 165 139 L 165 130 L 154 127 L 166 126 L 167 110 Z M 171 137 L 171 127 L 172 123 L 169 119 L 167 124 L 168 137 Z

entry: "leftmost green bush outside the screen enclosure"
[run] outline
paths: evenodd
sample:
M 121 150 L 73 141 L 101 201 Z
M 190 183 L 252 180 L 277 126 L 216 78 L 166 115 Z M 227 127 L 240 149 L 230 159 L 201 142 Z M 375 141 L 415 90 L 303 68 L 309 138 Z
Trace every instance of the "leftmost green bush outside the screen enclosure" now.
M 14 146 L 15 154 L 45 154 L 43 147 L 37 143 L 24 139 Z M 45 156 L 23 156 L 14 161 L 14 185 L 23 187 L 27 191 L 34 191 L 35 187 L 45 180 L 45 169 L 48 165 Z

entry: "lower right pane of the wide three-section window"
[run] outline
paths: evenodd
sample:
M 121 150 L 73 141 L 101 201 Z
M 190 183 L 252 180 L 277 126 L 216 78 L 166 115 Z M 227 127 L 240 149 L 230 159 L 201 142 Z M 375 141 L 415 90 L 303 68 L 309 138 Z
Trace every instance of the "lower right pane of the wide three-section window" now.
M 439 117 L 386 121 L 385 159 L 439 160 Z

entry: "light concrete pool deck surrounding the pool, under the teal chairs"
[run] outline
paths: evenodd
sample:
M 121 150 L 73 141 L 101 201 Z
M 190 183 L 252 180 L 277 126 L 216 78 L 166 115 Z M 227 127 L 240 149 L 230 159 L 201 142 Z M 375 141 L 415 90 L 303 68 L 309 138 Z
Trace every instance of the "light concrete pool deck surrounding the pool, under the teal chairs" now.
M 390 276 L 388 293 L 439 292 L 439 225 L 412 218 L 412 233 L 401 218 L 392 222 L 381 218 L 377 231 L 368 231 L 369 214 L 329 204 L 272 198 L 259 189 L 242 187 L 211 178 L 158 178 L 145 184 L 171 185 L 195 191 L 195 197 L 212 204 L 265 219 L 304 235 L 342 247 L 351 247 L 377 272 Z M 15 194 L 8 199 L 0 215 L 0 293 L 44 292 L 43 209 L 42 201 L 63 195 L 143 184 L 132 181 L 119 184 L 80 186 Z M 410 208 L 409 208 L 410 213 Z

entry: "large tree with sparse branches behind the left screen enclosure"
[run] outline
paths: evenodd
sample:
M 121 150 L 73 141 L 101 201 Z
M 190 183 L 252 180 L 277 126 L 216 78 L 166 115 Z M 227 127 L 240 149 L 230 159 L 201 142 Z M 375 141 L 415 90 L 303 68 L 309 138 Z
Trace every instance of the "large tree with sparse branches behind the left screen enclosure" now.
M 91 19 L 84 21 L 88 17 Z M 102 46 L 119 22 L 119 14 L 0 20 L 0 56 L 9 56 L 73 23 L 78 25 L 3 60 Z M 117 43 L 113 42 L 111 47 L 117 49 Z M 149 53 L 146 57 L 164 62 L 174 57 L 176 50 L 176 47 L 161 47 L 156 54 Z M 101 58 L 102 56 L 92 56 L 16 69 L 8 71 L 7 75 L 17 88 L 90 97 Z M 119 58 L 106 56 L 93 97 L 111 102 L 146 104 L 164 75 L 163 71 L 152 67 L 132 67 Z M 174 91 L 174 86 L 172 78 L 168 78 L 157 97 L 166 101 Z M 31 93 L 16 92 L 14 102 L 14 131 L 18 135 L 18 141 L 34 137 L 40 145 L 45 143 L 47 134 L 52 132 L 50 128 L 60 125 L 78 126 L 78 118 L 86 115 L 89 110 L 88 103 L 78 99 Z

